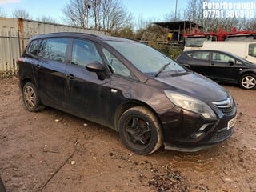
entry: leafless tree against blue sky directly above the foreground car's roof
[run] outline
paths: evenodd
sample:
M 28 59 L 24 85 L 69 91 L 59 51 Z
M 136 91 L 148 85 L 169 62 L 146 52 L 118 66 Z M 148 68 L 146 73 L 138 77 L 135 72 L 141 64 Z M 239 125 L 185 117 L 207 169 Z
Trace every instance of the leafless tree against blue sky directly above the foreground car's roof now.
M 63 13 L 71 25 L 89 28 L 89 23 L 95 30 L 116 30 L 132 20 L 119 0 L 70 0 Z

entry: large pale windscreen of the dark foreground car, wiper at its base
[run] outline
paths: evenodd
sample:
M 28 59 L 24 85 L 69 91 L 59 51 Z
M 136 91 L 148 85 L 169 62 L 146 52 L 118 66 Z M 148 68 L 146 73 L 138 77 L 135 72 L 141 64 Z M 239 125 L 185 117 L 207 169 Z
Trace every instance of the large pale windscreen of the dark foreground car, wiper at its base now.
M 175 74 L 186 72 L 182 66 L 179 66 L 171 58 L 142 43 L 115 41 L 108 41 L 108 43 L 126 57 L 138 70 L 150 76 L 158 76 L 163 70 L 175 72 Z

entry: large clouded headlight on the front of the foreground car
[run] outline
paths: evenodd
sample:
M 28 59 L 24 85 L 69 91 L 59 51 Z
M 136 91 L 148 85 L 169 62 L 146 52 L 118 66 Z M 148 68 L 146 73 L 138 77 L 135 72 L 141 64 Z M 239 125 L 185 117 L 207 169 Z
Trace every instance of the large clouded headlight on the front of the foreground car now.
M 216 119 L 216 114 L 214 114 L 214 111 L 210 109 L 210 106 L 197 98 L 192 98 L 184 94 L 173 93 L 169 90 L 165 90 L 165 94 L 167 98 L 174 103 L 174 105 L 179 106 L 182 109 L 202 114 L 202 116 L 207 119 Z

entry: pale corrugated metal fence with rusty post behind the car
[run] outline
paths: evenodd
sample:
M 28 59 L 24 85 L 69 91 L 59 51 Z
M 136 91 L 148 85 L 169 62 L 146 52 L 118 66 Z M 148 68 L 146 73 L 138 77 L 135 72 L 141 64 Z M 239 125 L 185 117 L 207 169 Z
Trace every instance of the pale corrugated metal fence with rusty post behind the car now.
M 0 77 L 17 74 L 18 58 L 31 37 L 38 34 L 54 32 L 107 34 L 103 31 L 86 30 L 54 23 L 36 22 L 22 18 L 0 18 Z

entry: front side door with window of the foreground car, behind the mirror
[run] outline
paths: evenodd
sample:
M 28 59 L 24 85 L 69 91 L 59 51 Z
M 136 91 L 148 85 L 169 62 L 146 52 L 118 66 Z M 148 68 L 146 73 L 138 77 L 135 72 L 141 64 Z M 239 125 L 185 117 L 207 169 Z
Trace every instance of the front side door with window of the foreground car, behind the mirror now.
M 110 78 L 98 79 L 86 65 L 99 62 L 103 65 L 94 42 L 74 39 L 70 62 L 66 66 L 66 106 L 72 114 L 106 125 L 110 105 Z

